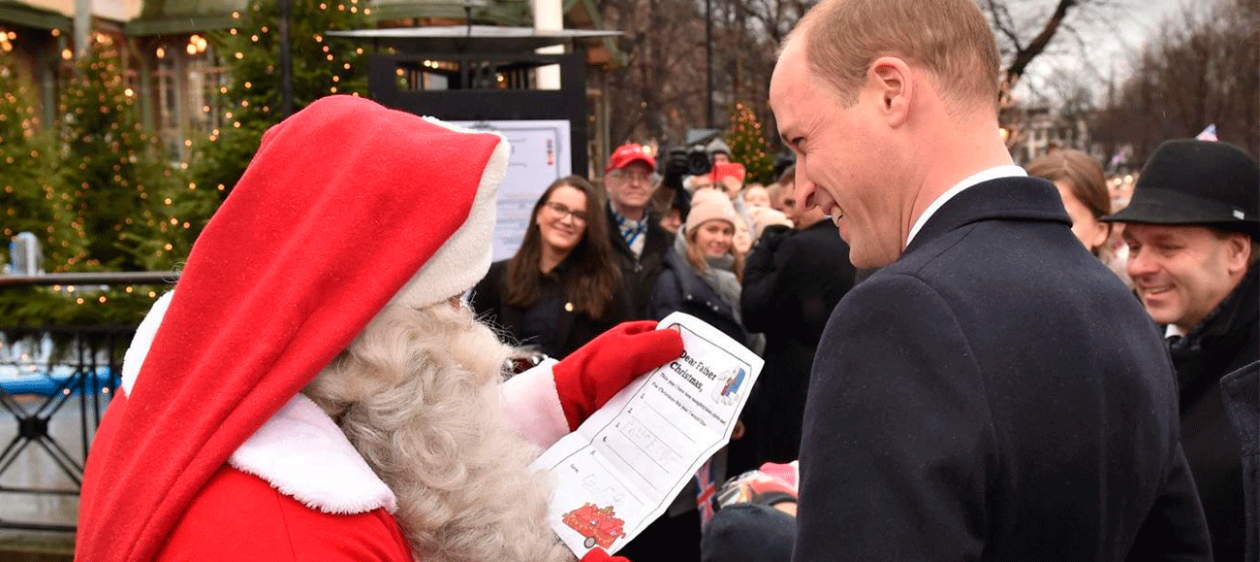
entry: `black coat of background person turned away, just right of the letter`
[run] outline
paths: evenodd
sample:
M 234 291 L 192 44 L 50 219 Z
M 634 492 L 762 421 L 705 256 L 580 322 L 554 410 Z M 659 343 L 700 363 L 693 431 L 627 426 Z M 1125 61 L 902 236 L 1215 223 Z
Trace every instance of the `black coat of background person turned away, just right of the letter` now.
M 770 227 L 748 253 L 740 304 L 743 326 L 766 335 L 766 365 L 743 408 L 743 439 L 731 442 L 731 474 L 799 456 L 814 350 L 854 273 L 830 219 Z

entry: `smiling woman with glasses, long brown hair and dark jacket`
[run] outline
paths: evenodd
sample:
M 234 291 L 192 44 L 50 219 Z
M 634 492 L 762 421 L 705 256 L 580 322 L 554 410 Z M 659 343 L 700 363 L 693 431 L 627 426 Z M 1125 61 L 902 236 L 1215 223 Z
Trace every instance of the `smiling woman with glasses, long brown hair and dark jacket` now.
M 556 359 L 629 320 L 606 221 L 590 181 L 571 175 L 552 183 L 534 204 L 520 249 L 493 263 L 472 289 L 472 310 L 504 339 Z

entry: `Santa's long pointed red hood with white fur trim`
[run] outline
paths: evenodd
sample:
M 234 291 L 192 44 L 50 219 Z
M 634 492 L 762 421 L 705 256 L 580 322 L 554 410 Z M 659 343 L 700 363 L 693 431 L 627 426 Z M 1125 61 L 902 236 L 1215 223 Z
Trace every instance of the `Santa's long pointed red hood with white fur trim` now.
M 508 150 L 348 96 L 268 130 L 101 422 L 77 558 L 151 559 L 228 456 L 382 307 L 475 285 Z

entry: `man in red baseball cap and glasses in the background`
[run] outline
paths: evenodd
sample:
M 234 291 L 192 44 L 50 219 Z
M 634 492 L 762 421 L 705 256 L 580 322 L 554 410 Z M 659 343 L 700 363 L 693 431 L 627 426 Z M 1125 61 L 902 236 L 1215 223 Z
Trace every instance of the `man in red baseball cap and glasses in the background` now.
M 605 168 L 609 192 L 609 238 L 621 268 L 621 281 L 630 294 L 635 319 L 651 319 L 648 304 L 651 289 L 669 252 L 670 234 L 648 212 L 655 190 L 656 161 L 641 145 L 621 145 Z

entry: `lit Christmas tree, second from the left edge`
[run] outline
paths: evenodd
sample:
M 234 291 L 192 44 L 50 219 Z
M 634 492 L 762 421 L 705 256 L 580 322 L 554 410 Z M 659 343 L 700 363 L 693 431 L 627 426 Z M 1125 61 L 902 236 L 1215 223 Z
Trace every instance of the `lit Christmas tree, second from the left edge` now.
M 71 267 L 82 261 L 86 268 L 147 270 L 170 252 L 169 242 L 154 251 L 137 242 L 181 236 L 165 210 L 173 203 L 170 173 L 156 163 L 154 137 L 140 126 L 135 105 L 135 92 L 122 79 L 118 45 L 97 34 L 74 64 L 59 106 L 72 224 L 87 246 L 86 256 L 67 261 Z

